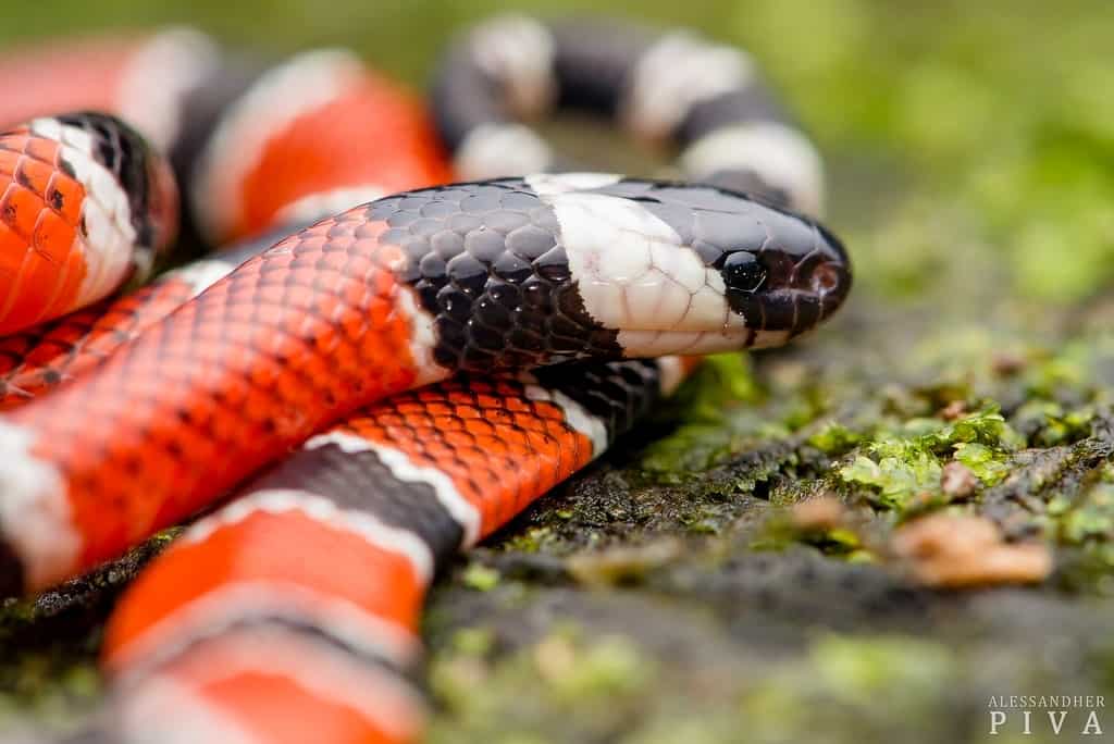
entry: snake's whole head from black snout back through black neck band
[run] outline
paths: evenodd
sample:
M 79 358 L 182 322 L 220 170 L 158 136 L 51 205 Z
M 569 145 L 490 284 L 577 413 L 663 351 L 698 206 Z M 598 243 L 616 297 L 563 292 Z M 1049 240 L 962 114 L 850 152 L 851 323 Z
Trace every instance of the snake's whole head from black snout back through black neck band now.
M 351 219 L 379 225 L 451 371 L 774 346 L 851 283 L 818 224 L 706 185 L 539 174 L 397 194 Z

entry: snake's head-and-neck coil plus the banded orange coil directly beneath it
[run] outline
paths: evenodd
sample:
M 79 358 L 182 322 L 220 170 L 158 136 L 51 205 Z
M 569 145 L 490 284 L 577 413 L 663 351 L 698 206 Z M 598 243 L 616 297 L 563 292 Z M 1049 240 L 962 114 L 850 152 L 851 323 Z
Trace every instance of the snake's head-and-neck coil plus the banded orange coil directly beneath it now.
M 398 194 L 206 282 L 0 420 L 10 590 L 240 483 L 114 615 L 118 730 L 413 741 L 437 567 L 671 392 L 695 361 L 670 354 L 780 345 L 842 304 L 842 245 L 778 204 L 815 192 L 740 174 L 766 196 L 590 173 Z

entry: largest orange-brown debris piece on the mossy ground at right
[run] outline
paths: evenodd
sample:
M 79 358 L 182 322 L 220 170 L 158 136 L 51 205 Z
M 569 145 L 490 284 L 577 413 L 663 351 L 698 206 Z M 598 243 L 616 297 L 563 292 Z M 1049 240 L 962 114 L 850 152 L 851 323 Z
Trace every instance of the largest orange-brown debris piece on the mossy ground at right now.
M 890 547 L 917 581 L 931 587 L 1035 584 L 1052 572 L 1048 546 L 1005 542 L 985 517 L 924 517 L 899 529 Z

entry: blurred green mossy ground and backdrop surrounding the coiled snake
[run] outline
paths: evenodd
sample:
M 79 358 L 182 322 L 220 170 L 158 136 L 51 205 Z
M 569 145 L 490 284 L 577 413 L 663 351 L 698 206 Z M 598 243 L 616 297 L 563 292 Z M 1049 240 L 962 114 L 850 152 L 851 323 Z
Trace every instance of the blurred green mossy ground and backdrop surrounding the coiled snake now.
M 681 427 L 652 428 L 672 435 L 620 448 L 453 567 L 427 620 L 434 741 L 1032 742 L 1047 731 L 987 735 L 988 695 L 1114 694 L 1108 0 L 10 1 L 0 45 L 186 22 L 275 57 L 351 46 L 420 87 L 455 30 L 510 9 L 750 50 L 825 157 L 858 286 L 813 343 L 714 365 Z M 612 140 L 579 131 L 580 159 L 610 165 Z M 957 502 L 939 487 L 952 401 L 983 412 L 993 466 Z M 780 510 L 818 492 L 854 520 L 786 528 Z M 895 526 L 938 508 L 1039 535 L 1055 576 L 960 596 L 874 568 Z M 592 562 L 615 546 L 635 552 Z M 0 712 L 95 706 L 92 605 L 65 633 L 50 607 L 8 607 Z

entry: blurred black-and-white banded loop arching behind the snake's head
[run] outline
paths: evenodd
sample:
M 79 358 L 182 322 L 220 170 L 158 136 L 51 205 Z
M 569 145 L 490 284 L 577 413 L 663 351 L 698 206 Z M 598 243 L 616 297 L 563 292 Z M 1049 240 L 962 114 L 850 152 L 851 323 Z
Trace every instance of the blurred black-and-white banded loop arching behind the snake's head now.
M 667 175 L 823 209 L 820 154 L 742 49 L 596 16 L 497 16 L 459 37 L 430 107 L 462 178 L 575 167 L 531 123 L 578 110 L 672 149 Z

